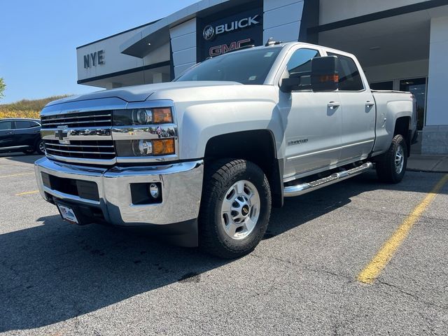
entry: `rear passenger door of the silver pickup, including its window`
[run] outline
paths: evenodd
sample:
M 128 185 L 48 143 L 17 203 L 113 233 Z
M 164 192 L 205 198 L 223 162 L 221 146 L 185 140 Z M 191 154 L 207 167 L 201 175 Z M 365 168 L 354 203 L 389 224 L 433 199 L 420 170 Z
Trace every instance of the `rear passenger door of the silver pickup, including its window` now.
M 339 165 L 367 158 L 372 151 L 375 133 L 375 106 L 365 77 L 355 59 L 337 56 L 339 99 L 342 107 L 342 141 Z

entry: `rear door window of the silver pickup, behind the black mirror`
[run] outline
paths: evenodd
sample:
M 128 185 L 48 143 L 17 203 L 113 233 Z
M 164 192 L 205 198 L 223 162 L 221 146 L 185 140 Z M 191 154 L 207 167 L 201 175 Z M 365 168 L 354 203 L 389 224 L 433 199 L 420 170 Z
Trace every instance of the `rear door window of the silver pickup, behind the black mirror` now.
M 337 71 L 339 72 L 339 91 L 359 91 L 364 89 L 363 80 L 350 57 L 327 52 L 328 56 L 337 56 Z

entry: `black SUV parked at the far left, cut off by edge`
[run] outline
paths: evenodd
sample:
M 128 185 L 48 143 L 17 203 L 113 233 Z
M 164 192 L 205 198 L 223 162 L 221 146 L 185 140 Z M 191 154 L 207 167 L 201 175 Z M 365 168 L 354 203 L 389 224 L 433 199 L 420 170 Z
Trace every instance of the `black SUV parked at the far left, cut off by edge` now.
M 43 154 L 41 120 L 0 119 L 0 152 L 23 152 Z

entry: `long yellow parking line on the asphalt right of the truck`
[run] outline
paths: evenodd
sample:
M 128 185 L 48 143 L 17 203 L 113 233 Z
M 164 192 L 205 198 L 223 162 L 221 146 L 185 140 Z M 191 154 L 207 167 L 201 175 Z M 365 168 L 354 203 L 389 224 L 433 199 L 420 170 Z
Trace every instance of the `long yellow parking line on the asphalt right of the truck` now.
M 377 279 L 381 271 L 393 257 L 395 251 L 397 251 L 402 241 L 405 240 L 416 221 L 419 220 L 421 214 L 423 214 L 429 204 L 433 202 L 435 196 L 447 181 L 448 174 L 443 176 L 442 179 L 437 182 L 433 190 L 426 195 L 423 201 L 412 210 L 412 212 L 405 218 L 405 221 L 403 221 L 398 229 L 393 232 L 393 235 L 386 241 L 386 243 L 384 243 L 377 255 L 370 261 L 369 265 L 358 274 L 358 281 L 370 284 Z

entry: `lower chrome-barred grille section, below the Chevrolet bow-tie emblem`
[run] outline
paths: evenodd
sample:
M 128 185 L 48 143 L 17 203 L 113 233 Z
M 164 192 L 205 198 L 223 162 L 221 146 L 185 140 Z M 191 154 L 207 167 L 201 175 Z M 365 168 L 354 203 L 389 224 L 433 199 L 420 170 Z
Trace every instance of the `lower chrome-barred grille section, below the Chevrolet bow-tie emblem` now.
M 70 141 L 70 144 L 60 144 L 59 140 L 44 140 L 45 151 L 49 155 L 65 158 L 83 158 L 97 160 L 113 160 L 116 158 L 112 140 Z

